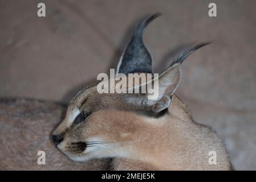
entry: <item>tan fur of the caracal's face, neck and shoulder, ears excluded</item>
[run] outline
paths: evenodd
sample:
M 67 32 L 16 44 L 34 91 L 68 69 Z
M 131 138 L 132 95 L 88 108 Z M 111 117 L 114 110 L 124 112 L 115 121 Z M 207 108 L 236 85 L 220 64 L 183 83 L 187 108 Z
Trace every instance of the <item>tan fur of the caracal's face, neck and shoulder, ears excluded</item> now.
M 161 117 L 137 113 L 124 102 L 127 94 L 99 94 L 96 85 L 82 90 L 68 106 L 66 118 L 54 134 L 63 134 L 58 148 L 71 159 L 115 158 L 113 169 L 228 170 L 224 144 L 209 127 L 193 121 L 181 100 L 173 101 Z M 68 125 L 74 109 L 90 111 L 84 122 Z M 76 153 L 71 143 L 100 140 L 97 147 Z M 217 164 L 210 165 L 209 151 Z M 132 166 L 136 166 L 132 168 Z

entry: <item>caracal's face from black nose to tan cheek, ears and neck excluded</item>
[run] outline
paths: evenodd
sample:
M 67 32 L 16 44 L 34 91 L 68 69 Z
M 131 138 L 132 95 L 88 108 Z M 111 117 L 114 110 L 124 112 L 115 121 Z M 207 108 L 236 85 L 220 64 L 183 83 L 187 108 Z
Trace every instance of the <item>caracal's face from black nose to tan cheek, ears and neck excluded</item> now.
M 150 108 L 127 103 L 129 94 L 97 92 L 97 84 L 80 91 L 67 107 L 66 117 L 54 131 L 60 151 L 74 160 L 115 154 L 115 148 L 141 140 L 140 131 Z

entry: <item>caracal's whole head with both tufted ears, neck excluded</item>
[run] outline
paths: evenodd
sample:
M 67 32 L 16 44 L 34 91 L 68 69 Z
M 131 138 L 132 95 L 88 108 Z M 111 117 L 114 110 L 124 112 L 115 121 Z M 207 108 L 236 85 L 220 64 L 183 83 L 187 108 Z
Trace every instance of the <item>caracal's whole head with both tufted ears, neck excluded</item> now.
M 117 84 L 127 78 L 128 73 L 152 73 L 152 57 L 144 46 L 142 34 L 145 26 L 157 16 L 150 16 L 137 26 L 117 66 L 117 73 L 123 73 L 123 76 L 118 76 L 120 79 L 95 82 L 76 94 L 68 104 L 66 116 L 55 129 L 52 140 L 69 158 L 85 161 L 128 156 L 129 151 L 136 150 L 135 143 L 151 137 L 161 125 L 158 118 L 166 113 L 180 83 L 182 61 L 205 44 L 186 49 L 159 76 L 132 84 L 135 88 L 157 80 L 154 86 L 158 86 L 158 94 L 154 100 L 149 100 L 148 92 L 99 93 L 98 90 L 99 84 L 110 83 L 111 79 Z M 131 89 L 131 86 L 126 89 Z

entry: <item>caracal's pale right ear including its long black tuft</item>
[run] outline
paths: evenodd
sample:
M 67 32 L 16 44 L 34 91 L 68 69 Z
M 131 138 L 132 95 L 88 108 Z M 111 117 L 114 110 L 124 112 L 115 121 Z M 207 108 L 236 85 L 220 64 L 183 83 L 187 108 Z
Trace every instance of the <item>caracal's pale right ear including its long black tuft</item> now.
M 209 43 L 196 44 L 195 46 L 188 47 L 180 53 L 173 60 L 170 67 L 166 69 L 160 76 L 154 77 L 153 79 L 140 84 L 140 88 L 147 85 L 153 85 L 153 91 L 156 91 L 155 87 L 158 88 L 158 93 L 148 92 L 146 94 L 136 94 L 131 95 L 126 101 L 132 105 L 139 105 L 147 108 L 152 108 L 154 113 L 159 113 L 160 111 L 166 109 L 171 101 L 174 92 L 177 90 L 178 85 L 181 81 L 181 63 L 188 57 L 191 53 L 196 51 L 198 48 L 206 46 Z M 147 73 L 147 72 L 146 72 Z M 136 86 L 138 87 L 138 85 Z M 149 98 L 150 97 L 150 98 Z

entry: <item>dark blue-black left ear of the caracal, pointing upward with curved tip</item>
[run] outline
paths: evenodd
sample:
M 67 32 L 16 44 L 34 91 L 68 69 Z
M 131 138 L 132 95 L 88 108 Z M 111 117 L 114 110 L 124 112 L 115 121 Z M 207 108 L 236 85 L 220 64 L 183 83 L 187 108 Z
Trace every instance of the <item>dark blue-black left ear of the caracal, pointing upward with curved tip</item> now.
M 153 19 L 160 15 L 148 16 L 136 27 L 132 39 L 117 65 L 117 73 L 124 73 L 125 75 L 136 72 L 152 73 L 152 57 L 143 43 L 143 30 Z

